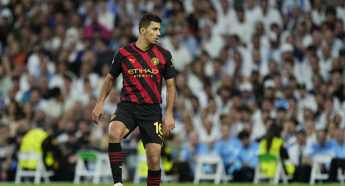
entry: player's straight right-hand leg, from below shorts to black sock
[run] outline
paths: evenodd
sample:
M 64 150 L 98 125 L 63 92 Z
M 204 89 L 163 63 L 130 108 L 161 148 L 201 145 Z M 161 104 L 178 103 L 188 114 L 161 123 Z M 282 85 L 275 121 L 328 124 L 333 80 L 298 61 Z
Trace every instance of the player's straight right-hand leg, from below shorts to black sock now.
M 146 143 L 146 160 L 147 160 L 147 185 L 158 186 L 160 184 L 160 151 L 162 145 L 158 143 Z

